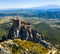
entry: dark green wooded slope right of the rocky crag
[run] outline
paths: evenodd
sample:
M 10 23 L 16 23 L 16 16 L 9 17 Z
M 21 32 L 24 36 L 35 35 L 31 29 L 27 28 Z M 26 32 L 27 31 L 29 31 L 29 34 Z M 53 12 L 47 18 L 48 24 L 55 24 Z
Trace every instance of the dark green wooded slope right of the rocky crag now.
M 46 40 L 51 43 L 60 43 L 60 30 L 49 27 L 46 23 L 39 23 L 34 25 L 36 29 L 45 36 Z

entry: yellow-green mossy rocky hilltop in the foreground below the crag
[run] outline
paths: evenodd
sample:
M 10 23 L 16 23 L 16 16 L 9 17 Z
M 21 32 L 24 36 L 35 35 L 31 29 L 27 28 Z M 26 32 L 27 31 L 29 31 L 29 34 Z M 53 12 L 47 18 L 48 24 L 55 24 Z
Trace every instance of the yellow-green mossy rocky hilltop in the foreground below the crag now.
M 7 40 L 0 44 L 0 54 L 47 54 L 43 46 L 20 39 Z

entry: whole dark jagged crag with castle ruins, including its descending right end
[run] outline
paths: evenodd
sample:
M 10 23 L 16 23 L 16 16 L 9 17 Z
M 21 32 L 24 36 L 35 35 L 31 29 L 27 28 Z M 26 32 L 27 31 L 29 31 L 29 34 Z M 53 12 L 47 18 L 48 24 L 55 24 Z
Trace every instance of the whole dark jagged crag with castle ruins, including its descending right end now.
M 32 25 L 30 23 L 20 21 L 19 18 L 14 18 L 12 22 L 13 24 L 9 30 L 7 39 L 28 40 L 35 43 L 40 43 L 43 46 L 48 47 L 48 43 L 43 40 L 43 36 L 40 35 L 36 29 L 32 28 Z M 3 40 L 4 39 L 5 37 L 3 37 Z

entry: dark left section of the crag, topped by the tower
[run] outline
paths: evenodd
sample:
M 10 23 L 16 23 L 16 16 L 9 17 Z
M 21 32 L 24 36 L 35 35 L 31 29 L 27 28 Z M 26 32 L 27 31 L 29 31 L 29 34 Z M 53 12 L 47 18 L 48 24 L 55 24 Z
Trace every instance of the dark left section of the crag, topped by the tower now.
M 18 38 L 20 29 L 20 20 L 18 17 L 13 19 L 13 25 L 9 31 L 8 39 Z

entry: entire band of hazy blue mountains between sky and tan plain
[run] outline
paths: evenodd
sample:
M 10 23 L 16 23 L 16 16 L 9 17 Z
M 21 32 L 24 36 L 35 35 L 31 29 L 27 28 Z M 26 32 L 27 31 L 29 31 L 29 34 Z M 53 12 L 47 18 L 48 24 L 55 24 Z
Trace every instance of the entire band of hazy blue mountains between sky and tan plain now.
M 60 18 L 60 6 L 49 5 L 33 8 L 12 8 L 0 10 L 0 17 L 4 16 L 22 16 L 22 17 L 39 17 L 39 18 Z

